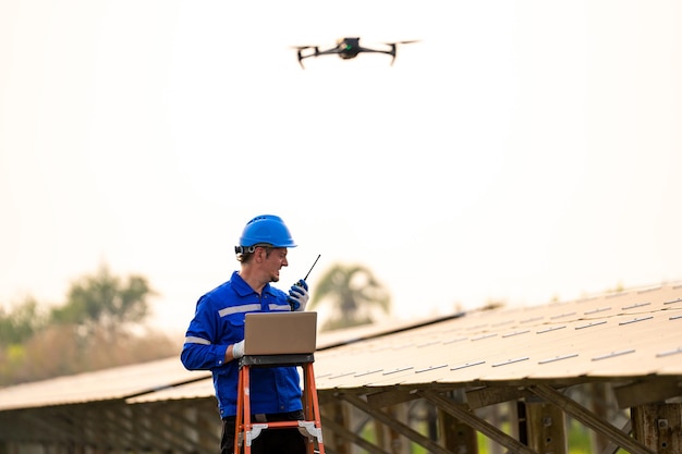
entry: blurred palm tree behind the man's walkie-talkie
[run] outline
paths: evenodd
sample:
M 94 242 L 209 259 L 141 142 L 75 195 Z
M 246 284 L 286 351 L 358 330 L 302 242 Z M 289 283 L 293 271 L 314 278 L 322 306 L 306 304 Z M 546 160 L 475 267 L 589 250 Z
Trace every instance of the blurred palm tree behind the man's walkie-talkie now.
M 372 323 L 390 312 L 390 295 L 372 271 L 363 266 L 334 265 L 313 292 L 309 308 L 328 306 L 331 315 L 322 331 Z

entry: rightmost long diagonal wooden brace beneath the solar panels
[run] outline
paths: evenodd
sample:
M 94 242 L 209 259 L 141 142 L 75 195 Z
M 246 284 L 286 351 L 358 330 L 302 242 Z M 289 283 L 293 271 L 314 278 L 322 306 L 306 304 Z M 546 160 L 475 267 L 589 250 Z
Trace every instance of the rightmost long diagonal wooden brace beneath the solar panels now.
M 536 384 L 528 386 L 528 391 L 539 397 L 543 397 L 547 402 L 551 402 L 557 405 L 573 418 L 577 419 L 590 429 L 605 434 L 609 440 L 613 441 L 616 444 L 632 454 L 656 454 L 655 451 L 651 451 L 644 444 L 631 439 L 628 434 L 621 432 L 617 427 L 613 427 L 608 421 L 597 417 L 594 413 L 589 412 L 575 401 L 564 396 L 551 386 Z

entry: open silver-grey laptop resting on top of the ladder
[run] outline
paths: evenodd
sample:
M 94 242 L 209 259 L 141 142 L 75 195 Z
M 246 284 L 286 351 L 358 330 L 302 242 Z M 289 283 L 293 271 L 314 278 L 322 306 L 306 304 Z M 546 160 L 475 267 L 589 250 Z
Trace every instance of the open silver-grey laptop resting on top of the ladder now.
M 317 312 L 248 312 L 244 355 L 290 355 L 315 352 Z

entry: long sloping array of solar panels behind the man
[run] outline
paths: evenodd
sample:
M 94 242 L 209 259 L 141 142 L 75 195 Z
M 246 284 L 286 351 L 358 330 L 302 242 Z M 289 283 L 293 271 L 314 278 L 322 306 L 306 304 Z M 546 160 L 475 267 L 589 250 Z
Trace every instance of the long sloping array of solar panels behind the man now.
M 318 391 L 682 377 L 682 285 L 321 333 L 315 373 Z M 209 377 L 171 357 L 0 389 L 0 412 L 209 397 Z

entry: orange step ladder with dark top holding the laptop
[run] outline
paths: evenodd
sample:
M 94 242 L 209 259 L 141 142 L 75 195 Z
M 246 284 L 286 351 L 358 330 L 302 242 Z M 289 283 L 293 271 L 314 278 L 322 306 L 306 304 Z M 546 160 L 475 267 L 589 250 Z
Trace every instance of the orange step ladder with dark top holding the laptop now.
M 253 441 L 263 430 L 297 428 L 307 435 L 307 453 L 325 454 L 322 443 L 322 426 L 320 424 L 314 355 L 244 355 L 240 358 L 239 389 L 236 394 L 236 421 L 234 434 L 234 453 L 251 454 Z M 251 368 L 301 366 L 303 368 L 303 420 L 253 422 L 251 420 Z M 241 451 L 243 449 L 243 451 Z

